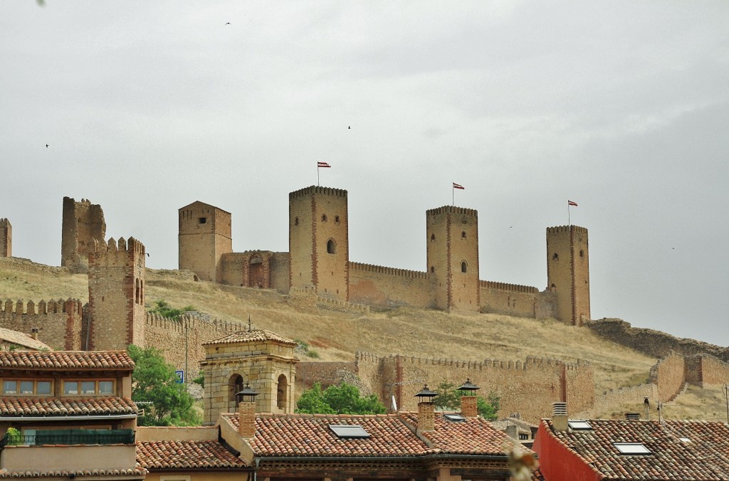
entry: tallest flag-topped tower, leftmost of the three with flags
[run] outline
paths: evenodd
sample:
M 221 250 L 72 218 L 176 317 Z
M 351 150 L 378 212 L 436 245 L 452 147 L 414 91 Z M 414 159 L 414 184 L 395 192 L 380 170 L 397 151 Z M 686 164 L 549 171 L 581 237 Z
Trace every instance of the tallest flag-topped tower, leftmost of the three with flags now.
M 292 287 L 315 286 L 320 296 L 349 299 L 347 191 L 306 187 L 289 193 Z

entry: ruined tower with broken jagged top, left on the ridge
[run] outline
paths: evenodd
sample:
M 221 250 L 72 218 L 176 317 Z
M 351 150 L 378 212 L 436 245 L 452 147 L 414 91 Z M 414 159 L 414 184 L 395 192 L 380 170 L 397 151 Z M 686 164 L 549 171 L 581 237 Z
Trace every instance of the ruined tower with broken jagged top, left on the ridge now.
M 87 272 L 89 253 L 95 249 L 94 241 L 104 242 L 106 238 L 101 206 L 87 199 L 76 202 L 64 197 L 61 229 L 61 266 L 72 273 Z

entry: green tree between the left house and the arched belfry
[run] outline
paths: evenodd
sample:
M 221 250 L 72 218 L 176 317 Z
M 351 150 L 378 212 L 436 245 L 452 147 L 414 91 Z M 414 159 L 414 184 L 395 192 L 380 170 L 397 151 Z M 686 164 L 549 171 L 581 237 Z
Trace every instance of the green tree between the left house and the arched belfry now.
M 200 416 L 192 408 L 194 399 L 184 384 L 177 383 L 175 368 L 167 364 L 156 348 L 130 345 L 134 361 L 132 399 L 140 402 L 145 415 L 140 426 L 191 426 L 200 424 Z

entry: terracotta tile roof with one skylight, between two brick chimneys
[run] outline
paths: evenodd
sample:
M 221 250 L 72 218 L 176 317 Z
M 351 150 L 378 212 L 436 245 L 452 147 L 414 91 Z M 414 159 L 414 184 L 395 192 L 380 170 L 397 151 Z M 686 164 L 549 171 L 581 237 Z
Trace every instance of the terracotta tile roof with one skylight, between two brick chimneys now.
M 238 415 L 225 415 L 238 429 Z M 340 439 L 330 425 L 358 424 L 366 439 Z M 397 415 L 256 415 L 256 437 L 250 442 L 258 456 L 418 456 L 428 446 Z

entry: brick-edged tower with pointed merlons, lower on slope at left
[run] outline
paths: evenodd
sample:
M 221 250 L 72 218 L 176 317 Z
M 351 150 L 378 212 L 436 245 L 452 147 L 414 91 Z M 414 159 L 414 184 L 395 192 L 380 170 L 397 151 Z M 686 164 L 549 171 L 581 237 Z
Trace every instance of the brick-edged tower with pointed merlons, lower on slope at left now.
M 89 254 L 89 350 L 144 346 L 144 245 L 135 238 L 96 243 Z

